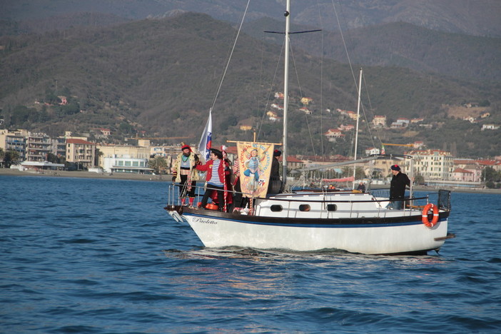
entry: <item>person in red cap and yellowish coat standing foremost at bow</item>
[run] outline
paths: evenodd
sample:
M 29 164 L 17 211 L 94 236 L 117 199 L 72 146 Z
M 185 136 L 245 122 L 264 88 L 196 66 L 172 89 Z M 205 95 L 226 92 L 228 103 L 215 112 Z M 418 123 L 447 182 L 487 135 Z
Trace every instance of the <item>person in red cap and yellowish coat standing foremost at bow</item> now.
M 181 205 L 186 205 L 186 196 L 190 207 L 193 207 L 195 200 L 196 181 L 198 181 L 198 173 L 193 166 L 200 163 L 198 156 L 191 151 L 191 147 L 183 143 L 181 153 L 178 154 L 176 161 L 172 166 L 172 182 L 178 182 L 181 191 Z

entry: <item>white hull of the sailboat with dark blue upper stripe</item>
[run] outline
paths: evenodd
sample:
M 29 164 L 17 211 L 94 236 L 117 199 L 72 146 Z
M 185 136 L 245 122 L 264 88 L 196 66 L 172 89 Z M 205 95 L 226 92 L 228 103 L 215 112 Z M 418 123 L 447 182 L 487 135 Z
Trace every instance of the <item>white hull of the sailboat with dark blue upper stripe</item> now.
M 292 251 L 335 248 L 350 253 L 401 254 L 439 249 L 447 238 L 448 214 L 442 213 L 433 228 L 427 228 L 420 215 L 405 219 L 306 218 L 298 221 L 287 218 L 256 219 L 186 208 L 182 216 L 203 245 L 211 248 L 240 246 Z

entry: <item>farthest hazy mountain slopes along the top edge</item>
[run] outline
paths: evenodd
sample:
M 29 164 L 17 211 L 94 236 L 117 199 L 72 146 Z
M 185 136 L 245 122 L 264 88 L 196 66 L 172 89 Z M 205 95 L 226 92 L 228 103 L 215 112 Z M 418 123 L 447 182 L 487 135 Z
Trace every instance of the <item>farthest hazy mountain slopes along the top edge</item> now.
M 216 19 L 239 22 L 247 0 L 23 0 L 4 1 L 0 20 L 50 19 L 80 12 L 113 14 L 124 19 L 170 16 L 194 11 Z M 336 9 L 334 10 L 333 4 Z M 247 19 L 280 19 L 285 0 L 253 0 Z M 472 36 L 501 36 L 501 1 L 492 0 L 317 0 L 292 1 L 295 24 L 338 31 L 335 11 L 345 30 L 391 22 L 407 22 L 437 31 Z

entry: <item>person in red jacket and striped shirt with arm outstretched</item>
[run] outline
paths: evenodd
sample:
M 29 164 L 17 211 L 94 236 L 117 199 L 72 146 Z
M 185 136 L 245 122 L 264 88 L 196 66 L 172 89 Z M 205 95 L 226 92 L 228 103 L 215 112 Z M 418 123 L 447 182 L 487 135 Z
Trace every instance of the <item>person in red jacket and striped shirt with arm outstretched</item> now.
M 202 208 L 206 208 L 208 198 L 213 191 L 217 191 L 219 211 L 224 211 L 226 206 L 224 191 L 227 190 L 226 175 L 230 171 L 229 166 L 223 160 L 223 153 L 216 148 L 211 148 L 211 160 L 207 161 L 205 165 L 197 165 L 196 169 L 207 172 L 207 189 L 203 194 Z

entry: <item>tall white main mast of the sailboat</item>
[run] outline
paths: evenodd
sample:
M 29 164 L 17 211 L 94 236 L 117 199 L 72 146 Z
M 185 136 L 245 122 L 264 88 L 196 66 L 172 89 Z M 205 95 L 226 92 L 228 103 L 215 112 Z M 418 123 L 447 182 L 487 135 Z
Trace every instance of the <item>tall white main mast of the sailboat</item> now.
M 285 189 L 287 183 L 287 112 L 289 104 L 289 34 L 290 34 L 290 0 L 287 0 L 285 9 L 285 61 L 283 74 L 283 174 L 282 174 L 282 189 Z

